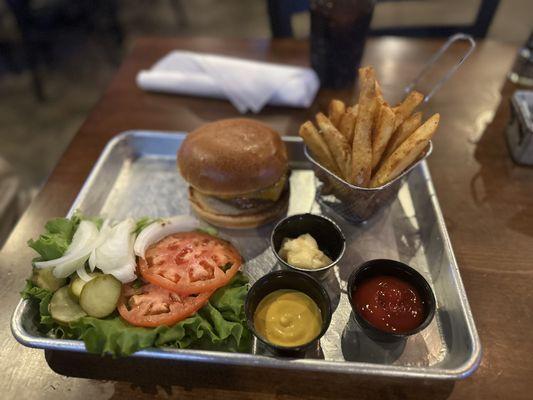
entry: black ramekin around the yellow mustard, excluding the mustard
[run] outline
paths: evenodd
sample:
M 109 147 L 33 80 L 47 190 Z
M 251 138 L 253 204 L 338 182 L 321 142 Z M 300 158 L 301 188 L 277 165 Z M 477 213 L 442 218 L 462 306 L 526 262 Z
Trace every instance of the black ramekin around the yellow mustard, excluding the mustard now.
M 320 330 L 318 336 L 310 342 L 292 347 L 279 346 L 262 338 L 261 335 L 255 330 L 254 314 L 257 305 L 269 293 L 280 289 L 292 289 L 303 292 L 313 299 L 320 309 L 320 313 L 322 314 L 322 329 Z M 271 272 L 255 282 L 246 296 L 244 310 L 246 313 L 248 327 L 257 337 L 257 339 L 266 344 L 271 350 L 274 351 L 274 353 L 285 356 L 297 355 L 304 352 L 312 345 L 315 345 L 316 342 L 328 330 L 332 314 L 331 300 L 326 292 L 326 289 L 324 289 L 324 287 L 315 278 L 298 271 L 290 270 Z

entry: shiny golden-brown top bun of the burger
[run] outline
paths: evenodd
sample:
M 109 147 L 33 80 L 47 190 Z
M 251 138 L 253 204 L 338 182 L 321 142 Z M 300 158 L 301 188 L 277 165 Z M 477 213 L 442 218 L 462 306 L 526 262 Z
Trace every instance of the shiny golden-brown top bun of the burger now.
M 288 169 L 279 134 L 251 119 L 225 119 L 187 135 L 178 152 L 183 178 L 202 193 L 238 196 L 265 189 Z

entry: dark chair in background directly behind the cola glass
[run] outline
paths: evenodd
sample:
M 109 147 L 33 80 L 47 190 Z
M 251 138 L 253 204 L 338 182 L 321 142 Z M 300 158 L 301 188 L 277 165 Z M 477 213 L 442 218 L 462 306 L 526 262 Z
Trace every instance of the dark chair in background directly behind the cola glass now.
M 391 0 L 377 0 L 378 3 L 386 1 Z M 487 35 L 499 3 L 500 0 L 481 0 L 476 18 L 470 25 L 388 27 L 372 29 L 370 34 L 374 36 L 447 37 L 457 32 L 464 32 L 482 38 Z M 294 36 L 292 16 L 309 10 L 309 1 L 267 0 L 267 6 L 272 36 L 275 38 L 292 37 Z

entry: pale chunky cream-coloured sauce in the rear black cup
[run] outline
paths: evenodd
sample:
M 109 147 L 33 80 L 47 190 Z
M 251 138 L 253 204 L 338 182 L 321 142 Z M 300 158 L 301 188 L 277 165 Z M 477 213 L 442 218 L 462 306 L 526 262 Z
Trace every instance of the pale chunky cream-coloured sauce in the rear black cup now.
M 296 239 L 285 238 L 279 255 L 289 264 L 305 269 L 317 269 L 332 263 L 331 258 L 319 248 L 316 240 L 308 233 Z

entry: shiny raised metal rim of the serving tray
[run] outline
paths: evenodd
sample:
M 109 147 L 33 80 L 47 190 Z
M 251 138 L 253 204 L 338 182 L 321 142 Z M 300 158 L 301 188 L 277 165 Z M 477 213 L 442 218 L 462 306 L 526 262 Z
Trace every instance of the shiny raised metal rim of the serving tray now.
M 123 140 L 129 137 L 143 136 L 151 138 L 166 138 L 169 136 L 183 137 L 185 132 L 180 131 L 156 131 L 156 130 L 128 130 L 121 132 L 111 138 L 104 149 L 100 153 L 98 160 L 94 164 L 91 172 L 87 176 L 82 188 L 74 199 L 67 216 L 71 216 L 78 204 L 85 197 L 89 191 L 91 183 L 96 179 L 100 169 L 102 168 L 107 156 L 113 151 Z M 302 143 L 303 141 L 297 136 L 282 136 L 286 142 Z M 302 370 L 302 371 L 316 371 L 321 372 L 327 370 L 330 373 L 342 374 L 359 374 L 367 376 L 379 377 L 399 377 L 399 378 L 419 378 L 419 379 L 437 379 L 437 380 L 458 380 L 470 376 L 477 369 L 481 362 L 482 349 L 479 340 L 479 335 L 475 326 L 474 318 L 468 302 L 466 291 L 461 279 L 459 267 L 451 240 L 444 224 L 444 217 L 440 208 L 440 204 L 433 186 L 431 174 L 427 166 L 426 160 L 423 160 L 416 168 L 420 168 L 422 175 L 426 181 L 428 192 L 431 198 L 431 204 L 436 214 L 439 232 L 443 238 L 443 246 L 450 258 L 451 275 L 454 284 L 458 289 L 458 294 L 462 304 L 462 311 L 464 312 L 466 327 L 468 335 L 472 340 L 472 351 L 469 358 L 461 365 L 455 368 L 431 368 L 431 367 L 409 367 L 397 365 L 372 364 L 366 362 L 354 361 L 326 361 L 320 359 L 283 359 L 276 357 L 267 357 L 247 353 L 228 353 L 220 351 L 207 350 L 190 350 L 190 349 L 172 349 L 172 348 L 150 348 L 138 351 L 130 357 L 137 358 L 154 358 L 163 360 L 175 361 L 196 361 L 196 362 L 213 362 L 220 364 L 228 364 L 235 366 L 254 366 L 260 368 L 277 368 L 284 370 Z M 11 332 L 15 339 L 22 345 L 31 348 L 38 348 L 43 350 L 59 350 L 59 351 L 73 351 L 79 353 L 87 353 L 83 341 L 70 339 L 53 339 L 42 336 L 34 336 L 27 332 L 22 325 L 22 315 L 26 307 L 30 306 L 29 300 L 21 299 L 17 304 L 13 316 L 11 318 Z

